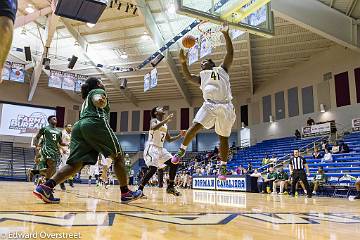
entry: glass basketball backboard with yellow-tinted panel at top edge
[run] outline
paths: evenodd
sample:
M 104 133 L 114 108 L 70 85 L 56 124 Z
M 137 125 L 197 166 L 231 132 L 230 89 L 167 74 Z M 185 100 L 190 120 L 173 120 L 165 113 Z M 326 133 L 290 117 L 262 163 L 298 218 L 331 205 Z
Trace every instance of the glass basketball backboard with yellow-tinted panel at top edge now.
M 270 0 L 177 0 L 177 13 L 270 38 L 274 17 Z

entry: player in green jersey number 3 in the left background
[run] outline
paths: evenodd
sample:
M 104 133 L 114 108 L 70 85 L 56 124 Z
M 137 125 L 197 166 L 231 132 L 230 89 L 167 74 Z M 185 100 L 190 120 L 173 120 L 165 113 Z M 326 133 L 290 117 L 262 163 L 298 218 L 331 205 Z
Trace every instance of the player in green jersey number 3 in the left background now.
M 55 174 L 56 164 L 60 161 L 60 145 L 63 145 L 61 140 L 61 130 L 56 128 L 56 116 L 49 116 L 48 123 L 49 125 L 41 128 L 34 139 L 35 146 L 40 147 L 39 139 L 41 137 L 43 138 L 41 143 L 40 163 L 43 161 L 46 164 L 46 179 L 50 179 L 52 175 Z

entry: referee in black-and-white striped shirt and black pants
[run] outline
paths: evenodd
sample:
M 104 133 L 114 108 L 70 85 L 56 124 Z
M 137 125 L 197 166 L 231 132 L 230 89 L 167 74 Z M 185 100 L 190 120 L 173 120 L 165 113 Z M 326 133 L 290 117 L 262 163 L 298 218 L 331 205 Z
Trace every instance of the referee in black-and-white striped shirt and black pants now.
M 306 163 L 306 160 L 300 156 L 298 149 L 294 150 L 294 157 L 290 159 L 289 168 L 290 174 L 292 175 L 291 195 L 293 197 L 295 196 L 296 183 L 301 180 L 305 185 L 308 198 L 311 198 L 312 195 L 310 191 L 310 186 L 307 181 L 307 176 L 310 176 L 309 167 Z

